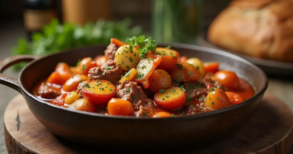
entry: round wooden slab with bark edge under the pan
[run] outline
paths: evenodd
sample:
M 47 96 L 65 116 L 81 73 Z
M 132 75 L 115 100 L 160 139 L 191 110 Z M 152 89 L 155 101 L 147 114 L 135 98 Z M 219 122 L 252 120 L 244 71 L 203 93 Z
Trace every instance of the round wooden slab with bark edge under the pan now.
M 288 153 L 292 145 L 292 126 L 293 117 L 288 106 L 266 94 L 251 119 L 229 138 L 200 149 L 180 150 L 179 153 Z M 51 133 L 33 116 L 21 95 L 8 104 L 4 127 L 9 153 L 106 153 L 101 152 L 105 149 L 85 148 Z

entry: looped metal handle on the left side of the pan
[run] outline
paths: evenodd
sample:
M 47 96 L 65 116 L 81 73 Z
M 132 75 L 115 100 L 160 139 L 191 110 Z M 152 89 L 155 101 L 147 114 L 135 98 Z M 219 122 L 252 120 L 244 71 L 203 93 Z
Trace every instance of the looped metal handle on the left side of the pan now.
M 1 60 L 0 61 L 0 84 L 4 84 L 20 92 L 18 79 L 2 75 L 2 72 L 4 72 L 10 66 L 17 64 L 19 62 L 30 62 L 38 58 L 39 56 L 36 56 L 36 55 L 16 55 L 16 56 L 7 57 Z

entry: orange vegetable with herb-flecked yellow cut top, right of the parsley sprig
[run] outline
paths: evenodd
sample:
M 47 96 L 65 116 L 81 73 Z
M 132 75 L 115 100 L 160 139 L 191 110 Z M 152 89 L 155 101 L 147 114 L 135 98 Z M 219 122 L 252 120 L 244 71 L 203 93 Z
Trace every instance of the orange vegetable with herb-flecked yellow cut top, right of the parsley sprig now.
M 179 53 L 172 49 L 157 47 L 152 53 L 162 57 L 162 61 L 157 67 L 158 69 L 170 70 L 176 65 L 179 59 Z

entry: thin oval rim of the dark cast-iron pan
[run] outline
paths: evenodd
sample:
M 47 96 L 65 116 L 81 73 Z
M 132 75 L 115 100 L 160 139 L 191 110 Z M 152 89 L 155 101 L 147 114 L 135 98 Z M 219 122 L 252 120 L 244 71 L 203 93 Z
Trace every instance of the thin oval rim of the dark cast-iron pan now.
M 158 46 L 166 46 L 167 44 L 159 44 Z M 168 44 L 169 45 L 169 44 Z M 23 91 L 23 94 L 25 94 L 26 96 L 30 97 L 31 99 L 34 99 L 35 101 L 38 101 L 39 103 L 42 103 L 44 105 L 50 106 L 54 109 L 57 110 L 63 110 L 63 111 L 68 111 L 68 112 L 74 112 L 77 114 L 84 114 L 84 115 L 88 115 L 88 116 L 97 116 L 100 118 L 109 118 L 109 119 L 131 119 L 131 120 L 144 120 L 144 121 L 148 121 L 148 120 L 185 120 L 185 119 L 193 119 L 193 118 L 202 118 L 202 117 L 207 117 L 207 116 L 212 116 L 215 114 L 220 114 L 222 112 L 226 112 L 229 110 L 233 110 L 236 108 L 239 108 L 241 106 L 245 106 L 247 104 L 253 103 L 255 100 L 257 100 L 258 98 L 260 98 L 266 91 L 266 89 L 268 88 L 268 78 L 266 76 L 266 74 L 263 72 L 263 70 L 261 70 L 259 67 L 257 67 L 256 65 L 254 65 L 253 63 L 251 63 L 250 61 L 238 56 L 238 55 L 234 55 L 232 53 L 226 52 L 226 51 L 222 51 L 222 50 L 218 50 L 218 49 L 213 49 L 213 48 L 208 48 L 208 47 L 202 47 L 202 46 L 197 46 L 197 45 L 190 45 L 190 44 L 182 44 L 182 43 L 171 43 L 172 47 L 175 48 L 185 48 L 185 49 L 190 49 L 190 50 L 201 50 L 203 52 L 208 52 L 208 53 L 213 53 L 213 54 L 218 54 L 218 55 L 223 55 L 226 57 L 231 57 L 235 60 L 247 63 L 248 65 L 250 65 L 251 67 L 254 67 L 258 72 L 261 73 L 261 77 L 265 80 L 265 85 L 262 87 L 262 89 L 260 89 L 260 91 L 258 91 L 255 95 L 253 95 L 251 98 L 243 101 L 242 103 L 236 104 L 236 105 L 232 105 L 229 107 L 226 107 L 224 109 L 219 109 L 219 110 L 215 110 L 215 111 L 211 111 L 211 112 L 204 112 L 204 113 L 200 113 L 200 114 L 195 114 L 195 115 L 186 115 L 186 116 L 175 116 L 175 117 L 166 117 L 166 118 L 152 118 L 152 117 L 134 117 L 134 116 L 114 116 L 114 115 L 104 115 L 104 114 L 98 114 L 98 113 L 92 113 L 92 112 L 85 112 L 85 111 L 77 111 L 77 110 L 71 110 L 62 106 L 57 106 L 51 103 L 48 103 L 46 101 L 40 100 L 37 97 L 35 97 L 33 94 L 31 94 L 30 92 L 28 92 L 23 84 L 22 84 L 22 76 L 23 76 L 23 72 L 30 67 L 30 65 L 33 65 L 35 62 L 40 61 L 46 57 L 50 57 L 51 55 L 47 55 L 45 57 L 42 57 L 38 60 L 34 60 L 31 61 L 30 63 L 28 63 L 25 68 L 23 68 L 21 70 L 21 72 L 19 73 L 19 77 L 18 77 L 18 81 L 20 84 L 20 87 Z M 83 48 L 78 48 L 78 49 L 89 49 L 89 48 L 96 48 L 97 46 L 102 46 L 102 45 L 95 45 L 92 47 L 83 47 Z M 64 52 L 70 52 L 72 50 L 76 50 L 75 49 L 70 49 L 70 50 L 65 50 Z M 53 54 L 52 54 L 53 55 Z

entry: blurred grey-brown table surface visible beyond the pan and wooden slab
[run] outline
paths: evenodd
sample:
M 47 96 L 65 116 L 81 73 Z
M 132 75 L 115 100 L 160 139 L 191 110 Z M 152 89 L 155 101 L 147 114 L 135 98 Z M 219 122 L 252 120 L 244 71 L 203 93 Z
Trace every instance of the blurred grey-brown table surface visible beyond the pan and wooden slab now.
M 11 26 L 12 25 L 12 26 Z M 10 55 L 10 49 L 16 45 L 18 37 L 23 37 L 24 32 L 19 26 L 2 25 L 0 27 L 0 60 Z M 17 25 L 17 24 L 16 24 Z M 5 75 L 10 77 L 17 77 L 18 72 L 8 69 L 4 72 Z M 269 78 L 268 92 L 276 95 L 293 110 L 293 79 L 277 79 Z M 0 154 L 7 153 L 4 142 L 3 130 L 3 114 L 7 103 L 18 94 L 15 90 L 6 86 L 0 85 Z M 292 149 L 291 152 L 293 153 Z

